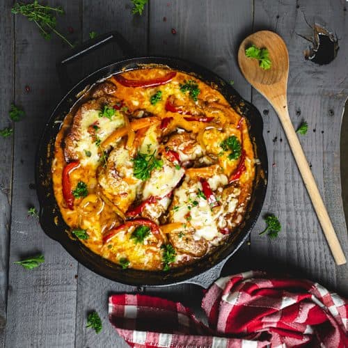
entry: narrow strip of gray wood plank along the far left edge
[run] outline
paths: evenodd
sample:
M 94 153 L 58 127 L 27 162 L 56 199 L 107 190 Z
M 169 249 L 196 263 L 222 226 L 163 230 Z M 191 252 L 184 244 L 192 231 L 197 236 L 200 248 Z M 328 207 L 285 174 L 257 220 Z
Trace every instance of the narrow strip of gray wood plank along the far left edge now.
M 13 100 L 13 64 L 14 31 L 13 18 L 8 8 L 12 1 L 1 1 L 0 12 L 0 113 L 5 116 Z M 11 127 L 7 117 L 1 117 L 0 129 Z M 1 173 L 0 173 L 0 347 L 5 345 L 6 301 L 8 287 L 8 245 L 10 242 L 10 200 L 12 178 L 13 136 L 0 139 Z

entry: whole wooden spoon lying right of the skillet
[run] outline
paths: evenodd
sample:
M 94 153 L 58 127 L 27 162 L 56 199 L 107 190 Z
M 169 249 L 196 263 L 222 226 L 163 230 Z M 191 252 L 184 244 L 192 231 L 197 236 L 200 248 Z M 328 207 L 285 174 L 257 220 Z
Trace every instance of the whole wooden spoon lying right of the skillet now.
M 269 70 L 260 68 L 257 59 L 246 57 L 245 50 L 251 45 L 268 49 L 271 59 L 271 68 Z M 292 154 L 295 157 L 303 182 L 308 190 L 310 200 L 312 200 L 324 235 L 333 253 L 333 258 L 335 258 L 336 264 L 345 264 L 345 255 L 340 246 L 340 242 L 338 242 L 335 230 L 333 230 L 329 214 L 326 211 L 287 109 L 289 54 L 287 53 L 285 42 L 279 35 L 271 31 L 258 31 L 257 33 L 253 33 L 244 39 L 240 45 L 238 63 L 240 70 L 242 70 L 249 84 L 256 88 L 274 107 L 276 113 L 278 113 L 287 140 L 289 141 Z

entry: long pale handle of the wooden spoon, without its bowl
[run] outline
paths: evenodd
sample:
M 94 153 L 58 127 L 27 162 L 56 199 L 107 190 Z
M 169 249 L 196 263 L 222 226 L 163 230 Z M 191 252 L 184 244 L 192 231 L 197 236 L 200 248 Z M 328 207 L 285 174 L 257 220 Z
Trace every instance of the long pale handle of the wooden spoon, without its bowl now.
M 283 99 L 283 98 L 281 98 Z M 345 264 L 346 258 L 345 254 L 342 251 L 338 237 L 333 229 L 329 214 L 326 210 L 322 197 L 320 196 L 317 184 L 313 177 L 312 171 L 308 166 L 306 156 L 302 150 L 301 143 L 299 138 L 294 130 L 294 126 L 290 120 L 289 113 L 287 111 L 287 102 L 286 100 L 278 100 L 278 102 L 271 102 L 274 106 L 274 109 L 278 113 L 280 122 L 283 125 L 287 140 L 289 141 L 292 154 L 295 157 L 296 164 L 299 167 L 302 179 L 306 188 L 308 190 L 310 200 L 312 200 L 313 207 L 317 213 L 320 224 L 324 231 L 324 235 L 329 243 L 331 252 L 333 253 L 333 258 L 335 259 L 336 264 Z

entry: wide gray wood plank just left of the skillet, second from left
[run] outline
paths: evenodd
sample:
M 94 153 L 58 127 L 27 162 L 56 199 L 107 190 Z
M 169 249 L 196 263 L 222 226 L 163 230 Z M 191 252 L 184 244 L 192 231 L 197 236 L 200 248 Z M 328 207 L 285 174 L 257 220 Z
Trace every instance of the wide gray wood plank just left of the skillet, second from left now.
M 4 12 L 8 13 L 10 3 L 6 2 Z M 68 26 L 79 27 L 79 3 L 60 3 L 67 15 L 58 24 L 67 33 Z M 42 127 L 61 96 L 55 63 L 65 48 L 58 38 L 45 41 L 24 17 L 15 17 L 15 37 L 15 102 L 24 107 L 26 118 L 15 125 L 6 347 L 73 347 L 77 262 L 45 236 L 37 219 L 27 217 L 29 206 L 38 207 L 29 184 L 34 182 Z M 25 91 L 26 85 L 30 93 Z M 38 269 L 27 271 L 13 264 L 40 252 L 46 261 Z

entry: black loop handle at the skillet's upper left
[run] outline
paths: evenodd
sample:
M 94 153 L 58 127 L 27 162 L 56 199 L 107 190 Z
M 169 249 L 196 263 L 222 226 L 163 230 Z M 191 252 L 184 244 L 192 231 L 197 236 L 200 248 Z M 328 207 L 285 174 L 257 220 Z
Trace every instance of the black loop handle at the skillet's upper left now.
M 109 42 L 116 42 L 116 44 L 122 49 L 123 54 L 127 58 L 136 56 L 136 52 L 129 42 L 117 31 L 111 31 L 110 33 L 104 33 L 98 35 L 96 38 L 82 42 L 81 45 L 71 49 L 68 54 L 61 57 L 56 63 L 56 69 L 58 72 L 59 83 L 64 88 L 65 92 L 68 92 L 72 86 L 73 81 L 68 74 L 67 66 L 69 63 L 77 61 L 79 58 L 86 56 L 90 52 L 99 49 L 100 47 L 108 44 Z

